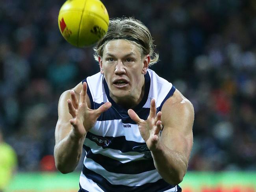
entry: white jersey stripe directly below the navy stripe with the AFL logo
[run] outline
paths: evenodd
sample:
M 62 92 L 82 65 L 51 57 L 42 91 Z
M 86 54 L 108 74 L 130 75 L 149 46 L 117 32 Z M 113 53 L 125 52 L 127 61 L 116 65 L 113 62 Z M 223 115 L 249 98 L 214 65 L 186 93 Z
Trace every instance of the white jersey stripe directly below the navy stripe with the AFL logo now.
M 93 152 L 93 154 L 102 154 L 106 157 L 110 157 L 122 163 L 137 161 L 137 160 L 145 160 L 145 158 L 143 158 L 144 153 L 141 154 L 135 151 L 122 153 L 120 150 L 113 150 L 109 148 L 103 149 L 101 146 L 98 146 L 95 142 L 89 140 L 88 138 L 85 138 L 84 143 L 86 144 L 86 146 L 91 148 L 91 151 Z

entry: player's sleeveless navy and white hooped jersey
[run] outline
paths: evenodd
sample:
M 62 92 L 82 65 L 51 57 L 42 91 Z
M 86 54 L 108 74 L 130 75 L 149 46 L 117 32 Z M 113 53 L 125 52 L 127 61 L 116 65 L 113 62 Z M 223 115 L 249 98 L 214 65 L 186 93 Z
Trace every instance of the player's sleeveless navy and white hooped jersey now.
M 80 192 L 180 192 L 180 186 L 165 182 L 154 166 L 147 145 L 128 109 L 117 105 L 109 96 L 104 75 L 97 73 L 83 80 L 91 108 L 106 102 L 112 106 L 102 113 L 85 137 L 86 156 L 80 175 Z M 148 69 L 145 93 L 134 111 L 146 120 L 150 101 L 156 100 L 157 111 L 173 95 L 172 83 Z

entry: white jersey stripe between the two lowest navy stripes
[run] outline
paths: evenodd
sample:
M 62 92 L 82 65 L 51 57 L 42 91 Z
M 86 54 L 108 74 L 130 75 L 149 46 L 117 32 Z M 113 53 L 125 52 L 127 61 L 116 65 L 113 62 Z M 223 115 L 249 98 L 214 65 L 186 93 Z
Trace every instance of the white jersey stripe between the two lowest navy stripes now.
M 100 164 L 91 159 L 85 158 L 84 165 L 86 168 L 93 170 L 97 174 L 102 175 L 109 183 L 113 185 L 126 185 L 126 186 L 141 186 L 146 183 L 154 183 L 161 179 L 157 170 L 143 172 L 141 174 L 117 174 L 108 172 Z

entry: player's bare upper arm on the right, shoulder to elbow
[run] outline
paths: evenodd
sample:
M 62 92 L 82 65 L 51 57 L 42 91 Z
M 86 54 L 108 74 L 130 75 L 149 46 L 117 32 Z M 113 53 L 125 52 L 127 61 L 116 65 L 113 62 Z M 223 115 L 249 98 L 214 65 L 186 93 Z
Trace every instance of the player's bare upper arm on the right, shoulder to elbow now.
M 193 105 L 178 92 L 169 98 L 162 108 L 161 142 L 171 150 L 186 156 L 188 162 L 193 146 L 192 127 L 194 122 Z M 178 98 L 177 98 L 178 97 Z

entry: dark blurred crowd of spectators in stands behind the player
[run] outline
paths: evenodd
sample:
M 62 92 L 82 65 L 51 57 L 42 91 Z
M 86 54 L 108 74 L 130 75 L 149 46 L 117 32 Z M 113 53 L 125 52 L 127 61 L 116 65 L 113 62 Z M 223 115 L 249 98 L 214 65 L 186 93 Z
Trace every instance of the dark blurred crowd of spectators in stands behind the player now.
M 19 171 L 54 171 L 58 99 L 99 72 L 93 49 L 58 28 L 63 0 L 2 0 L 0 129 Z M 195 108 L 189 170 L 256 170 L 256 1 L 102 0 L 109 17 L 150 29 L 152 66 Z

